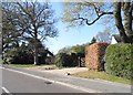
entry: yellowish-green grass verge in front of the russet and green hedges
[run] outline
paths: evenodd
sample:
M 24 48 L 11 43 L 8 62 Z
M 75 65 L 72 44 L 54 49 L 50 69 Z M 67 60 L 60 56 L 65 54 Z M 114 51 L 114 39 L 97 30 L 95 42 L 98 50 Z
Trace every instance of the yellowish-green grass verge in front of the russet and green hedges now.
M 123 83 L 123 84 L 133 84 L 132 83 L 133 81 L 131 82 L 131 80 L 110 75 L 110 74 L 106 74 L 105 72 L 86 71 L 86 72 L 75 73 L 75 74 L 73 74 L 73 76 L 92 78 L 92 80 L 100 78 L 100 80 L 106 80 L 106 81 L 111 81 L 111 82 Z

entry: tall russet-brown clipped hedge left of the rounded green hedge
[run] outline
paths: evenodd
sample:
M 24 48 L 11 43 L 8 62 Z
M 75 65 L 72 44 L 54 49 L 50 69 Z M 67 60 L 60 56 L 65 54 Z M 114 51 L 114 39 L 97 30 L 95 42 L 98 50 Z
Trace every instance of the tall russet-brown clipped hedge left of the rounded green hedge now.
M 103 70 L 102 59 L 108 45 L 108 43 L 101 42 L 85 48 L 85 66 L 89 70 Z

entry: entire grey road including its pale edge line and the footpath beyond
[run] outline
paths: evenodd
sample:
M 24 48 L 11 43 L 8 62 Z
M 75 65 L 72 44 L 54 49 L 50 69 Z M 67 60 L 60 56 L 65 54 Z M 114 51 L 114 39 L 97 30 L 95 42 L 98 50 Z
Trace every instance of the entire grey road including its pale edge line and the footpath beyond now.
M 121 93 L 131 95 L 131 85 L 86 80 L 3 65 L 2 92 L 9 93 Z M 123 94 L 122 94 L 123 93 Z M 129 94 L 127 94 L 129 93 Z M 69 94 L 70 95 L 70 94 Z M 108 94 L 109 95 L 109 94 Z

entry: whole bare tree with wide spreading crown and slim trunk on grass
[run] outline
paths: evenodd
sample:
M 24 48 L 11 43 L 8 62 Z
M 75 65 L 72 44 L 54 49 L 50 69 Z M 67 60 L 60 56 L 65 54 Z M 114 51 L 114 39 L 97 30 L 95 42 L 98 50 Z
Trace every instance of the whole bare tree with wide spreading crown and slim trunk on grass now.
M 13 27 L 21 33 L 22 40 L 32 39 L 34 64 L 39 64 L 38 42 L 58 35 L 54 27 L 57 19 L 53 17 L 54 11 L 49 2 L 16 2 L 13 12 Z M 3 15 L 4 17 L 4 15 Z M 12 25 L 11 24 L 11 25 Z

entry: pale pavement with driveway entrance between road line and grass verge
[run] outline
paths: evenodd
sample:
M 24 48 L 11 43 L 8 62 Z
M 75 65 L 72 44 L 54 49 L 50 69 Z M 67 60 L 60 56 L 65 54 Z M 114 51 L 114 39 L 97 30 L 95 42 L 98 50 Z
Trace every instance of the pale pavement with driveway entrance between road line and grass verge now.
M 10 67 L 17 71 L 27 72 L 38 75 L 54 83 L 69 87 L 82 89 L 86 93 L 133 93 L 132 86 L 127 84 L 114 83 L 103 80 L 89 80 L 68 75 L 68 73 L 76 73 L 86 71 L 85 67 L 63 68 L 63 70 L 37 70 L 37 68 L 18 68 Z

